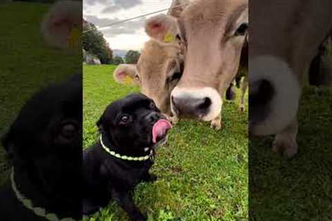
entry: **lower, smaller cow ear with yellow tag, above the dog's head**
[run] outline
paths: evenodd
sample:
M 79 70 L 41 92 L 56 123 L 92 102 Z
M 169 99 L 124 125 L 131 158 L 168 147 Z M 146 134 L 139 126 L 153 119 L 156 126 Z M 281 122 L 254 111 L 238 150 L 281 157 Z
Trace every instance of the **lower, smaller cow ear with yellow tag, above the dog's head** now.
M 119 84 L 137 84 L 136 65 L 120 64 L 114 70 L 113 77 Z

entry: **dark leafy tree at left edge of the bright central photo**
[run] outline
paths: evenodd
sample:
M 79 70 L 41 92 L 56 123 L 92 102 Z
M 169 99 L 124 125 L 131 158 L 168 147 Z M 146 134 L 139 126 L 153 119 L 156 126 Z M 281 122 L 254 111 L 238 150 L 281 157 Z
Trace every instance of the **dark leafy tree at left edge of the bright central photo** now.
M 111 64 L 113 52 L 104 39 L 102 32 L 97 30 L 93 23 L 83 21 L 83 31 L 86 30 L 89 30 L 89 32 L 84 32 L 82 35 L 84 50 L 98 57 L 102 64 Z

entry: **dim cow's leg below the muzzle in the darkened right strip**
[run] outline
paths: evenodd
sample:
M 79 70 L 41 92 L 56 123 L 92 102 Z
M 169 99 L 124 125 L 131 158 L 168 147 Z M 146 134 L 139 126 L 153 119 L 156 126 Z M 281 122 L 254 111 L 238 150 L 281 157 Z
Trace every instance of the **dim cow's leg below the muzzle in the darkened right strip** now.
M 275 135 L 272 149 L 274 152 L 283 152 L 286 157 L 293 157 L 297 153 L 297 119 L 287 126 L 283 131 Z

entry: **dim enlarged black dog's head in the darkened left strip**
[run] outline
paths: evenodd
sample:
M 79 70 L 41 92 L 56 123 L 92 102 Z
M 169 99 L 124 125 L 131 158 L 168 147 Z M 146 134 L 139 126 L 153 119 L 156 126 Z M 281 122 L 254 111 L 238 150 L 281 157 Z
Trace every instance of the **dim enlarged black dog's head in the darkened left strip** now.
M 79 197 L 82 167 L 80 77 L 49 86 L 24 105 L 3 139 L 15 168 L 54 198 Z

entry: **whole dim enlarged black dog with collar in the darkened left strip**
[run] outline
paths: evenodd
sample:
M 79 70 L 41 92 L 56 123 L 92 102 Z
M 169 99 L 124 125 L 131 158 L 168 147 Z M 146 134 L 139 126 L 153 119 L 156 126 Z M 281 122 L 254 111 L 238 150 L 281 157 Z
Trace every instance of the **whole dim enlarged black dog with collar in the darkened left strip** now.
M 33 95 L 3 146 L 12 174 L 0 190 L 0 220 L 82 218 L 81 75 Z

